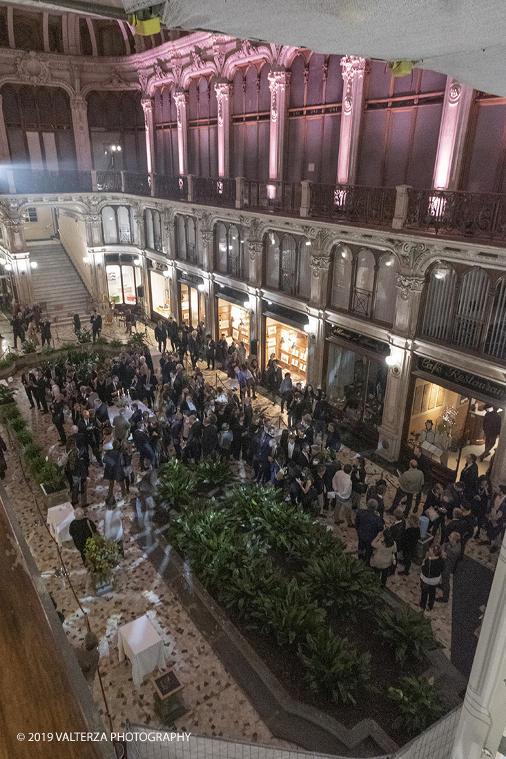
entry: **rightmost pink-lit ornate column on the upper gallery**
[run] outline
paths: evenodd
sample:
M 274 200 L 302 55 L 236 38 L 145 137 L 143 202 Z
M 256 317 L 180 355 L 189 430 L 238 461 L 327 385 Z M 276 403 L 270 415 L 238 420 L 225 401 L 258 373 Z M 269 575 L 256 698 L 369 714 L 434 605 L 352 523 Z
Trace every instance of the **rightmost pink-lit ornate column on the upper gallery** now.
M 434 167 L 436 190 L 458 189 L 472 101 L 473 87 L 447 77 Z

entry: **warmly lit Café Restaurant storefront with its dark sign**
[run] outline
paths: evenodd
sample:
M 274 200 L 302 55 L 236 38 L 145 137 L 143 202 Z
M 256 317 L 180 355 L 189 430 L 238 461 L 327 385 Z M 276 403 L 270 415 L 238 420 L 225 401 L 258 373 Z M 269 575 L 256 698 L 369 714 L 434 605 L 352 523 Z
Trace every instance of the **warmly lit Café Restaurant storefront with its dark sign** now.
M 489 408 L 502 412 L 506 387 L 422 357 L 417 357 L 414 375 L 407 444 L 410 449 L 421 446 L 436 469 L 442 467 L 454 476 L 467 455 L 479 457 L 485 452 L 483 420 Z M 473 391 L 481 391 L 476 392 L 480 397 L 473 397 Z M 489 459 L 478 458 L 477 463 L 479 474 L 485 474 Z

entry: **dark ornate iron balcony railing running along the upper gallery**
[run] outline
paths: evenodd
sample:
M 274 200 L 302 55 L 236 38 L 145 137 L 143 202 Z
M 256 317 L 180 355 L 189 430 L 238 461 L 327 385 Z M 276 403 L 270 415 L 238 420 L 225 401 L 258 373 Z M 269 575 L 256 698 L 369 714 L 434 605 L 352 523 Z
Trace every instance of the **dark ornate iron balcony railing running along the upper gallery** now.
M 128 193 L 334 223 L 413 230 L 498 244 L 506 239 L 506 194 L 309 181 L 166 177 L 134 172 L 0 170 L 0 195 Z

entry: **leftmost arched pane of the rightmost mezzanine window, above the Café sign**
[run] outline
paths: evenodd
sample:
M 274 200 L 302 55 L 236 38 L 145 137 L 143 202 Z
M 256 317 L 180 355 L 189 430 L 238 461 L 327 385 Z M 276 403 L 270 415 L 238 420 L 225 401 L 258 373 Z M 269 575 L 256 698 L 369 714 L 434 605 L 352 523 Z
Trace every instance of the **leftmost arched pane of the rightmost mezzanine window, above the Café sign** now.
M 454 312 L 457 274 L 445 263 L 438 263 L 429 275 L 422 332 L 435 340 L 449 339 Z

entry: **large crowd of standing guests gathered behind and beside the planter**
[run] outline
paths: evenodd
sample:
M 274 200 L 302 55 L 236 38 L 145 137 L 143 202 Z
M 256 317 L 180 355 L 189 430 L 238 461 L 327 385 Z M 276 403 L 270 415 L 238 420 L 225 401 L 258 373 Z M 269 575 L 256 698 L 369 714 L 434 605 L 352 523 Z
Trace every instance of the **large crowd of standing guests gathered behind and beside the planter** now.
M 488 477 L 479 477 L 476 456 L 467 457 L 460 481 L 447 487 L 435 483 L 422 504 L 429 461 L 416 448 L 406 470 L 398 473 L 394 499 L 385 505 L 386 477 L 368 482 L 363 458 L 353 464 L 340 461 L 340 433 L 325 393 L 293 384 L 274 354 L 261 376 L 256 357 L 247 357 L 244 345 L 225 335 L 215 344 L 203 324 L 191 329 L 174 320 L 160 322 L 155 339 L 161 352 L 156 372 L 149 349 L 138 345 L 81 373 L 57 364 L 46 374 L 25 372 L 21 377 L 30 405 L 52 414 L 65 447 L 74 506 L 81 502 L 81 509 L 87 508 L 91 457 L 103 468 L 112 506 L 115 495 L 128 496 L 136 474 L 152 494 L 150 473 L 170 458 L 190 464 L 201 458 L 243 461 L 251 477 L 281 490 L 286 501 L 315 517 L 330 518 L 337 529 L 345 524 L 355 530 L 359 558 L 382 584 L 397 565 L 402 565 L 400 575 L 409 575 L 420 538 L 432 536 L 422 563 L 424 609 L 432 609 L 435 600 L 447 602 L 449 578 L 469 540 L 489 545 L 492 553 L 498 550 L 506 525 L 506 487 L 493 490 Z M 168 343 L 172 350 L 167 351 Z M 229 387 L 204 378 L 204 366 L 217 364 L 231 380 Z M 270 402 L 280 402 L 281 411 L 286 410 L 283 429 L 270 424 L 268 407 L 252 405 L 259 385 Z M 105 449 L 104 441 L 109 443 Z M 78 515 L 83 534 L 93 529 L 85 527 L 84 511 Z M 442 595 L 436 599 L 437 587 Z

